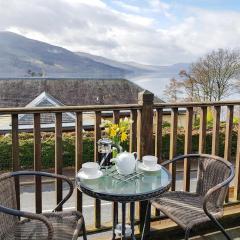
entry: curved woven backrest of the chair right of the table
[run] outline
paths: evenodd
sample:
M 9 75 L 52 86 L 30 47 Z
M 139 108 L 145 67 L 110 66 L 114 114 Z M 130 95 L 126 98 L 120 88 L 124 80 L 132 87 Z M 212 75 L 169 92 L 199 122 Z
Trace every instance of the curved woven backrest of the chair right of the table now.
M 222 158 L 201 155 L 198 161 L 197 194 L 205 196 L 210 188 L 229 178 L 231 174 L 230 165 L 231 163 L 224 161 Z M 229 183 L 210 196 L 209 201 L 215 206 L 223 206 Z

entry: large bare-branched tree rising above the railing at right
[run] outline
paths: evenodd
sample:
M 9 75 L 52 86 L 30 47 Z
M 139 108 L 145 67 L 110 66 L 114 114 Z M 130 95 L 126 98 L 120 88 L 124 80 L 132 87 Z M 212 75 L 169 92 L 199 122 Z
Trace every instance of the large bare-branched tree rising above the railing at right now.
M 240 73 L 240 53 L 218 49 L 191 65 L 190 73 L 182 70 L 182 85 L 191 101 L 220 101 L 229 96 Z

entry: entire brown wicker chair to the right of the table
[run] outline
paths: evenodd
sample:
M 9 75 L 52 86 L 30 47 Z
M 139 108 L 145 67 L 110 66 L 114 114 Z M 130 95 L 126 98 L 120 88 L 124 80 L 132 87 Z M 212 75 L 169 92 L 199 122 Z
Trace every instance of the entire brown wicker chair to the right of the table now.
M 185 230 L 185 239 L 189 238 L 192 228 L 212 221 L 231 240 L 217 219 L 223 215 L 227 189 L 234 178 L 232 164 L 216 156 L 188 154 L 165 161 L 162 165 L 184 159 L 198 161 L 196 193 L 167 192 L 152 200 L 151 204 Z

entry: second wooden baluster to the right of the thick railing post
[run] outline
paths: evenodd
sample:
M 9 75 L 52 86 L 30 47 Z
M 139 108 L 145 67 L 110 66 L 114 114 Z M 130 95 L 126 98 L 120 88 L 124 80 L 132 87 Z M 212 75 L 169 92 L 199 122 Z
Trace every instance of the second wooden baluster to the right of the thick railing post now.
M 178 128 L 178 108 L 171 109 L 171 133 L 170 133 L 170 154 L 169 159 L 173 159 L 177 154 L 177 128 Z M 171 190 L 176 188 L 176 163 L 169 165 L 169 170 L 172 174 Z

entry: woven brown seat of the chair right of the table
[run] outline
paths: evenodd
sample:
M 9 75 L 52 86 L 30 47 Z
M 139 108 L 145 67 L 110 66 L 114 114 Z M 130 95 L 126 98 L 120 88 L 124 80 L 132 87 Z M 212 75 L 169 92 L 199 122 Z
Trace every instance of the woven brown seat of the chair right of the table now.
M 194 193 L 167 192 L 154 199 L 152 205 L 185 230 L 210 221 L 203 211 L 203 197 Z M 222 210 L 213 204 L 208 204 L 208 210 L 215 218 L 222 216 Z

